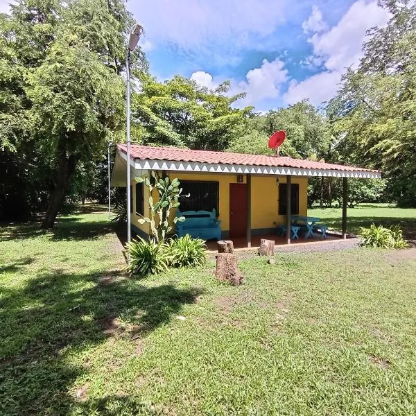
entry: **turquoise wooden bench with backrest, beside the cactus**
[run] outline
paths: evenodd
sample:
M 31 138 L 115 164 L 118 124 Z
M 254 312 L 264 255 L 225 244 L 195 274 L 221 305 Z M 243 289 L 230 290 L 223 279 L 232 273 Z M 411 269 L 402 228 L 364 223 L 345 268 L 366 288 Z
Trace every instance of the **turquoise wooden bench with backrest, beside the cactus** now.
M 183 237 L 189 234 L 193 239 L 221 239 L 220 220 L 216 218 L 216 210 L 210 211 L 185 211 L 177 210 L 177 217 L 185 217 L 186 219 L 181 223 L 176 223 L 176 234 L 178 237 Z

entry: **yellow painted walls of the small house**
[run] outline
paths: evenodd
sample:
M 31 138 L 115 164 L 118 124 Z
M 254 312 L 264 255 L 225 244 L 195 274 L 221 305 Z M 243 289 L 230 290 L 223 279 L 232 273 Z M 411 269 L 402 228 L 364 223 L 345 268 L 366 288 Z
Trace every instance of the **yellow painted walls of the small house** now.
M 223 231 L 229 230 L 229 184 L 237 183 L 237 175 L 213 174 L 213 173 L 184 173 L 184 172 L 170 172 L 168 173 L 171 180 L 177 177 L 179 180 L 205 180 L 219 182 L 219 216 L 221 220 L 221 229 Z M 277 224 L 284 224 L 286 216 L 279 216 L 279 183 L 286 183 L 286 176 L 272 176 L 272 175 L 252 175 L 252 229 L 272 228 Z M 244 175 L 245 182 L 245 175 Z M 135 182 L 132 182 L 135 184 Z M 299 184 L 299 214 L 307 215 L 307 191 L 308 178 L 307 177 L 292 177 L 293 184 Z M 146 224 L 139 224 L 139 216 L 135 214 L 136 190 L 133 187 L 133 214 L 132 223 L 139 227 L 141 231 L 150 234 L 150 226 Z M 148 188 L 144 187 L 144 212 L 145 216 L 149 215 L 148 207 Z M 157 193 L 153 195 L 153 199 L 157 200 Z M 175 210 L 173 210 L 175 211 Z M 174 216 L 174 212 L 171 216 Z

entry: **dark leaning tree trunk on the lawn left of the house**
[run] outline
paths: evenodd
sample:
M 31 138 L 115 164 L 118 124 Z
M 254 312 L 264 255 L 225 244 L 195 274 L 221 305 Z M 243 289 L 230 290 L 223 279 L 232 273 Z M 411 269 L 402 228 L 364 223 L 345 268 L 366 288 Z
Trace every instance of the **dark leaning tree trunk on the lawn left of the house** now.
M 69 186 L 69 180 L 75 171 L 79 160 L 78 155 L 67 155 L 66 150 L 60 150 L 58 154 L 58 172 L 56 173 L 55 189 L 51 193 L 48 209 L 42 221 L 42 228 L 53 228 L 56 216 L 62 207 L 65 194 Z

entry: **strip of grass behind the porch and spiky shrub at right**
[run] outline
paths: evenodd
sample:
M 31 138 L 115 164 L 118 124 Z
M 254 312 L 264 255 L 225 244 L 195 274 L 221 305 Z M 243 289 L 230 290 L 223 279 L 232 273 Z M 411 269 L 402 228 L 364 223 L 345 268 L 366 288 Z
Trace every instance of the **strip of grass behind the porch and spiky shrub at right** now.
M 330 228 L 342 228 L 342 209 L 340 208 L 314 208 L 308 209 L 309 216 L 318 216 Z M 397 208 L 388 204 L 362 204 L 347 210 L 347 229 L 352 234 L 358 234 L 360 227 L 376 225 L 399 224 L 404 229 L 407 239 L 416 240 L 416 208 Z

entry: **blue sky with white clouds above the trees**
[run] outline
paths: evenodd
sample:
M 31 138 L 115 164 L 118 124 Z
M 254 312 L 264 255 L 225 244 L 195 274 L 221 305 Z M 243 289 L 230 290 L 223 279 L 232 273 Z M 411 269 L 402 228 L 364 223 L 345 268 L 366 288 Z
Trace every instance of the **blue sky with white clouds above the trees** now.
M 0 12 L 9 0 L 0 0 Z M 376 0 L 130 0 L 140 44 L 159 80 L 180 74 L 214 88 L 231 81 L 236 105 L 257 111 L 328 101 L 362 56 L 366 31 L 384 26 Z

